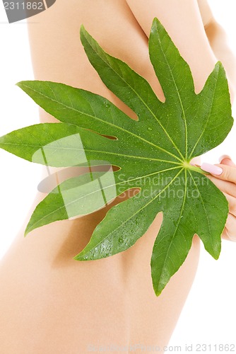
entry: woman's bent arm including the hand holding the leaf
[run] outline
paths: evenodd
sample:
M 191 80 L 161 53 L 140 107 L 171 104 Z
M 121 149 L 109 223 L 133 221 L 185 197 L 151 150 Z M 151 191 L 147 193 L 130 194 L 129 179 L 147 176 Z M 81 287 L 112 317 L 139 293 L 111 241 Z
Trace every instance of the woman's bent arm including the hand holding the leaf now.
M 228 75 L 232 101 L 235 86 L 231 83 L 235 77 L 235 59 L 226 44 L 225 32 L 213 18 L 206 0 L 200 0 L 199 3 L 196 0 L 146 0 L 145 4 L 143 0 L 126 2 L 147 37 L 155 16 L 163 23 L 191 68 L 196 93 L 201 91 L 217 60 L 222 61 Z M 228 198 L 230 213 L 223 238 L 233 240 L 236 239 L 236 192 L 232 183 L 236 183 L 236 165 L 223 159 L 219 166 L 223 167 L 222 175 L 210 175 L 209 178 Z

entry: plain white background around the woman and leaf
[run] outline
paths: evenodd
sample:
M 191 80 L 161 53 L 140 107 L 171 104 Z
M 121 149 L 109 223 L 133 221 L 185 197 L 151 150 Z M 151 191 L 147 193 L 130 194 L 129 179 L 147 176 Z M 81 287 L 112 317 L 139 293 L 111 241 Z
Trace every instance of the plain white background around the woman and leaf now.
M 228 33 L 230 47 L 236 54 L 235 0 L 209 0 L 211 8 Z M 38 120 L 37 105 L 17 86 L 16 82 L 34 79 L 30 62 L 26 21 L 7 23 L 0 4 L 0 135 Z M 233 107 L 235 115 L 236 107 Z M 236 117 L 236 115 L 235 115 Z M 236 161 L 235 132 L 216 149 L 205 154 L 205 161 L 218 163 L 222 154 Z M 42 167 L 0 150 L 0 259 L 4 256 L 29 210 L 40 182 Z M 223 241 L 218 261 L 201 247 L 199 269 L 194 285 L 179 318 L 170 346 L 185 343 L 235 343 L 236 351 L 236 243 Z M 4 286 L 4 284 L 1 284 Z M 196 348 L 196 346 L 195 346 Z M 171 349 L 171 348 L 170 348 Z M 209 353 L 210 350 L 207 351 Z M 192 353 L 195 353 L 193 349 Z M 222 353 L 222 352 L 221 352 Z

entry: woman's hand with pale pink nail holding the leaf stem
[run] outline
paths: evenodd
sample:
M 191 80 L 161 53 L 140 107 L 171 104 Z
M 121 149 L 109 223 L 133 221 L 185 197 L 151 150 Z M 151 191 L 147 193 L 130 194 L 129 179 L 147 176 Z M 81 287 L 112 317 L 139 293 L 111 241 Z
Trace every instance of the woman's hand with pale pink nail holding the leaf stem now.
M 223 192 L 229 203 L 228 219 L 222 238 L 236 241 L 236 165 L 230 156 L 220 157 L 220 164 L 203 163 L 201 169 L 210 172 L 206 175 Z

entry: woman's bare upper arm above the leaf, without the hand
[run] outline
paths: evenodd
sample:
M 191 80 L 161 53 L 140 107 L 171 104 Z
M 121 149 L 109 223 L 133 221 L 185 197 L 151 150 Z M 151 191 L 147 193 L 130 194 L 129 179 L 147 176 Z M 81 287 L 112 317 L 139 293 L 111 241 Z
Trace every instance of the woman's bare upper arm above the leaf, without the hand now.
M 203 88 L 216 62 L 222 59 L 229 78 L 232 100 L 234 89 L 231 81 L 233 81 L 233 77 L 232 70 L 229 69 L 232 64 L 226 65 L 222 53 L 218 56 L 219 51 L 215 52 L 215 46 L 211 47 L 212 42 L 208 39 L 208 33 L 206 33 L 203 24 L 203 21 L 210 23 L 213 19 L 206 0 L 201 0 L 199 3 L 196 0 L 126 0 L 126 3 L 147 37 L 155 16 L 163 23 L 180 54 L 191 68 L 196 93 L 199 93 Z M 223 45 L 225 45 L 224 40 L 225 38 L 220 40 Z M 230 54 L 232 55 L 231 52 Z

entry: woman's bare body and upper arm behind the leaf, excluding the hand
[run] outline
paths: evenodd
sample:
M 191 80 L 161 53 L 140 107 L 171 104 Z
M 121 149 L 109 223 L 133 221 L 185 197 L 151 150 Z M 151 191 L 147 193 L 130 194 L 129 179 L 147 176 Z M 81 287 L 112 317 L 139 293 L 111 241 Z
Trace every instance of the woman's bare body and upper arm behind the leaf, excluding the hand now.
M 93 91 L 135 118 L 88 62 L 79 28 L 83 23 L 107 52 L 144 76 L 164 101 L 148 57 L 148 34 L 157 16 L 189 63 L 199 92 L 217 61 L 217 49 L 214 53 L 208 42 L 217 42 L 211 28 L 215 21 L 206 3 L 199 1 L 199 5 L 201 13 L 194 0 L 57 0 L 52 8 L 28 20 L 35 79 Z M 204 24 L 211 28 L 208 38 Z M 220 47 L 224 46 L 222 40 Z M 233 79 L 228 69 L 233 59 L 230 55 L 225 59 L 222 52 L 218 59 L 225 64 L 228 79 Z M 230 86 L 232 96 L 233 89 Z M 56 120 L 40 110 L 40 121 Z M 23 229 L 1 260 L 0 352 L 77 354 L 87 353 L 90 345 L 166 346 L 194 280 L 198 236 L 194 236 L 187 260 L 156 297 L 150 261 L 161 213 L 131 249 L 98 261 L 79 262 L 73 256 L 88 243 L 107 208 L 49 224 L 24 239 L 31 212 L 44 197 L 37 194 Z M 112 205 L 122 200 L 124 195 Z M 137 348 L 136 353 L 141 350 Z

